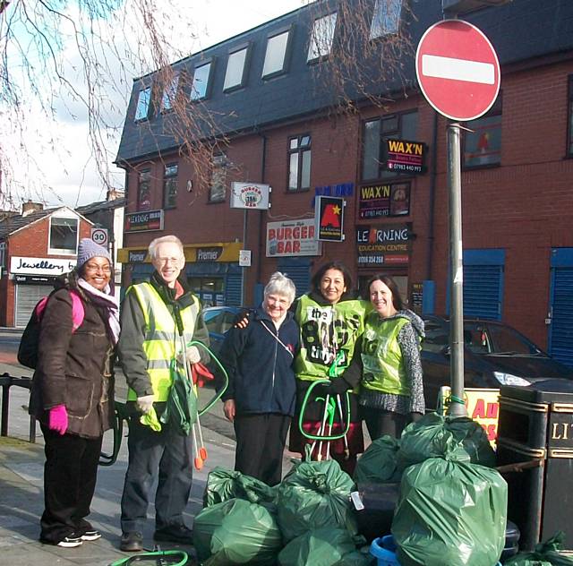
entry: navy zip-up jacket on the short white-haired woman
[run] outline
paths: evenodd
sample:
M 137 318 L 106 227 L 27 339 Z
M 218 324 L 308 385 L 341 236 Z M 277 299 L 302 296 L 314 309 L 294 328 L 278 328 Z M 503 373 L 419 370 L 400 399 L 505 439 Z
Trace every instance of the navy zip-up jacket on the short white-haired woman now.
M 237 414 L 294 414 L 298 337 L 292 313 L 277 330 L 262 308 L 246 328 L 228 331 L 219 356 L 229 376 L 223 400 L 235 399 Z

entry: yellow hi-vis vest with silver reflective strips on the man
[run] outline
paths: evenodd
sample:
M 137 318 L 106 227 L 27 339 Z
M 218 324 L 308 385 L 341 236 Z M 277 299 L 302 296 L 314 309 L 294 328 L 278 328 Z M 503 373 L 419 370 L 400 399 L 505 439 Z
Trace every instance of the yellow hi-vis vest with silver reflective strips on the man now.
M 135 293 L 145 320 L 145 339 L 142 346 L 147 357 L 147 371 L 150 374 L 155 400 L 167 401 L 173 383 L 171 363 L 178 354 L 183 352 L 175 319 L 167 308 L 167 304 L 163 302 L 150 283 L 133 285 L 127 289 L 127 293 Z M 185 344 L 189 344 L 193 338 L 195 322 L 199 315 L 197 297 L 193 296 L 193 303 L 182 309 L 180 313 Z M 127 399 L 137 399 L 134 390 L 128 390 Z

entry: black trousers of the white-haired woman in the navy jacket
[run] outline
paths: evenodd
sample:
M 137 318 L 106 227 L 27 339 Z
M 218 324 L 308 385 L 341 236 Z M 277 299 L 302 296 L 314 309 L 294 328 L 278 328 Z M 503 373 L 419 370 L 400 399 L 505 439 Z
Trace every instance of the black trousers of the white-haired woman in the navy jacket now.
M 235 416 L 235 470 L 268 485 L 280 484 L 290 416 L 265 413 Z

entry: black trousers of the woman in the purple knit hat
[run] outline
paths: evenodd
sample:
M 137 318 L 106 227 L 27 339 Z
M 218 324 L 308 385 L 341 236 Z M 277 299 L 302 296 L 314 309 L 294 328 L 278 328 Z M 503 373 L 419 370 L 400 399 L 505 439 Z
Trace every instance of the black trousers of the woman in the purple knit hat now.
M 66 536 L 81 536 L 90 523 L 90 504 L 96 489 L 102 436 L 60 435 L 41 425 L 46 442 L 44 505 L 40 540 L 57 545 Z

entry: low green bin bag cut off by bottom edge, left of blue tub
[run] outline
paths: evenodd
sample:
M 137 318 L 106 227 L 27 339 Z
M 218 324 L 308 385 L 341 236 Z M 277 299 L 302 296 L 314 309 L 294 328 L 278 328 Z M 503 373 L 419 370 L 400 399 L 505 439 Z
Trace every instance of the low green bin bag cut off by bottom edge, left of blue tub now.
M 346 528 L 316 528 L 297 536 L 278 554 L 280 566 L 335 566 L 355 550 Z

